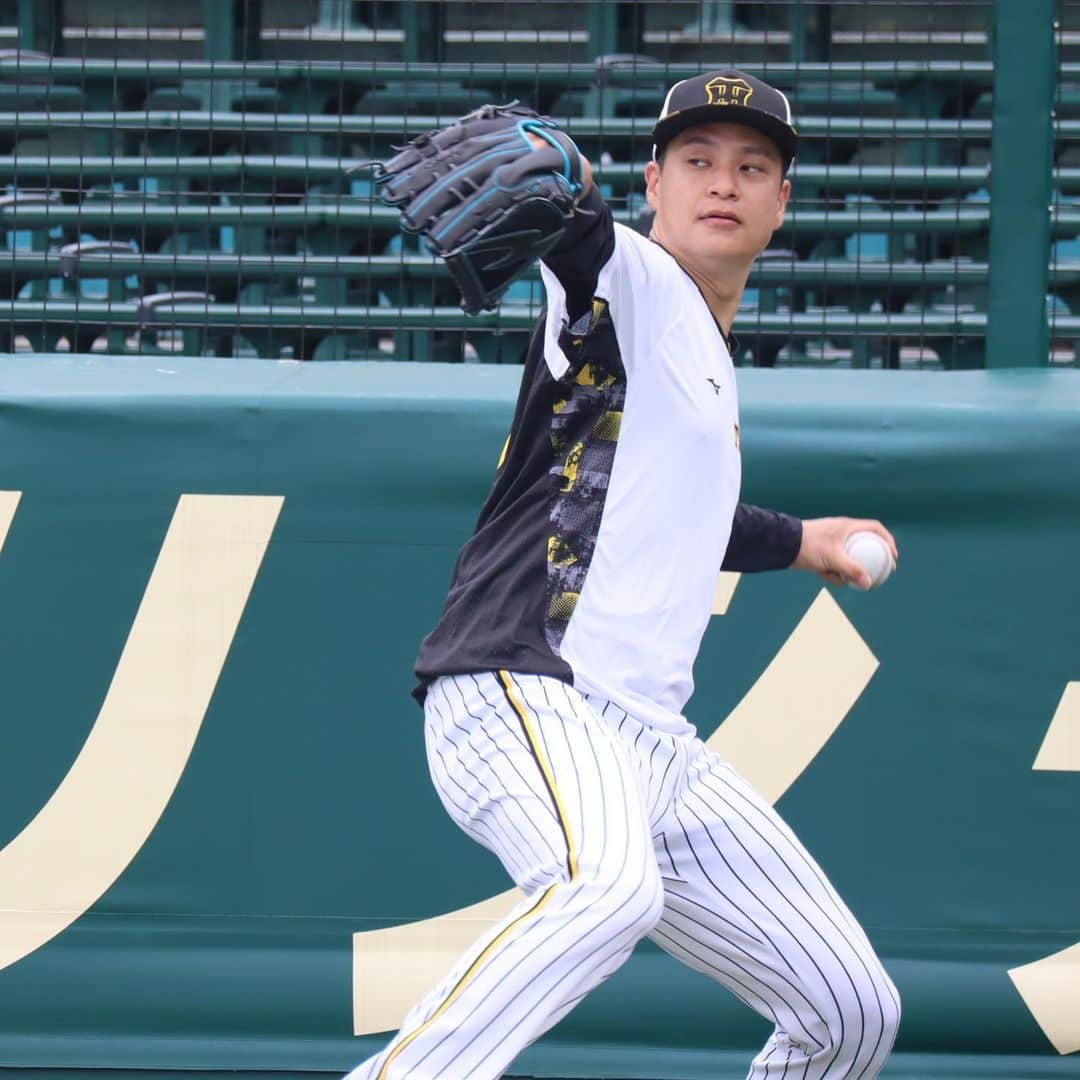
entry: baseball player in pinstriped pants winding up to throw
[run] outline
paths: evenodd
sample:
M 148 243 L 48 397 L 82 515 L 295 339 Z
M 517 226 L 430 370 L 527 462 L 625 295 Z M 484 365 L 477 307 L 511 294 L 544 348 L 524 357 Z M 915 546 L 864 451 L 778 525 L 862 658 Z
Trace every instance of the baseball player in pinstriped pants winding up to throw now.
M 683 715 L 716 577 L 869 584 L 877 522 L 741 504 L 730 328 L 781 225 L 791 106 L 738 70 L 674 85 L 648 238 L 570 139 L 488 107 L 381 177 L 467 309 L 536 257 L 546 312 L 510 437 L 417 662 L 431 775 L 525 893 L 350 1080 L 487 1080 L 648 936 L 773 1030 L 748 1076 L 873 1078 L 900 1018 L 866 935 L 773 808 Z

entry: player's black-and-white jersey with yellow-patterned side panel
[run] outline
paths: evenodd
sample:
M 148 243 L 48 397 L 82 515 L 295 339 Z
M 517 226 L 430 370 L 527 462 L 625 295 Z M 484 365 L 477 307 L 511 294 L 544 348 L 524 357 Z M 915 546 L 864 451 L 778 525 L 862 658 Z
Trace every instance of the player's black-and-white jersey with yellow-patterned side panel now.
M 694 281 L 590 205 L 541 267 L 508 448 L 417 674 L 554 675 L 684 732 L 739 503 L 734 368 Z M 781 518 L 747 568 L 792 561 Z

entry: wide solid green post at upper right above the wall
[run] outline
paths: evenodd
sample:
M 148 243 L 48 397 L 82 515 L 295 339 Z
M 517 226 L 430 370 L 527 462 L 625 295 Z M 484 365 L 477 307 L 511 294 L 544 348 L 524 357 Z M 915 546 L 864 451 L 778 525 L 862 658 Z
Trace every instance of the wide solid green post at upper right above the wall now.
M 1054 0 L 998 0 L 996 5 L 987 367 L 1050 362 L 1054 9 Z

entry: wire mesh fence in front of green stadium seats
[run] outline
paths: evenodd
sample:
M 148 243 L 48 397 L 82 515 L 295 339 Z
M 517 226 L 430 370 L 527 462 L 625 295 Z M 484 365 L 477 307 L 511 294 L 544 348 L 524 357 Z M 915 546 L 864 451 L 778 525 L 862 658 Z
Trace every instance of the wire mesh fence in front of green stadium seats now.
M 617 219 L 647 229 L 666 87 L 737 66 L 789 94 L 801 135 L 738 361 L 980 366 L 996 14 L 993 0 L 8 0 L 0 348 L 517 362 L 538 273 L 467 318 L 357 163 L 518 99 L 566 125 Z M 1049 360 L 1074 364 L 1080 4 L 1061 23 L 1045 293 Z

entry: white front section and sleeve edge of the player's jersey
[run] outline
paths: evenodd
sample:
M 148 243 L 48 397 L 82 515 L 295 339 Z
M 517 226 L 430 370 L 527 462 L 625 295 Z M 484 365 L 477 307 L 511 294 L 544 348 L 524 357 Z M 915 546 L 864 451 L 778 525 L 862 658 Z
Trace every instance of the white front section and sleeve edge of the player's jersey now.
M 558 343 L 566 294 L 546 268 L 543 280 L 544 360 L 563 379 L 572 367 Z M 596 296 L 608 307 L 625 397 L 592 561 L 559 652 L 583 692 L 679 730 L 739 502 L 734 368 L 693 280 L 623 226 Z

